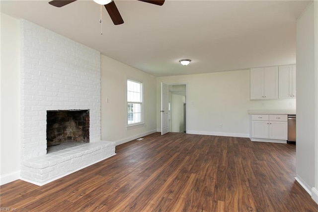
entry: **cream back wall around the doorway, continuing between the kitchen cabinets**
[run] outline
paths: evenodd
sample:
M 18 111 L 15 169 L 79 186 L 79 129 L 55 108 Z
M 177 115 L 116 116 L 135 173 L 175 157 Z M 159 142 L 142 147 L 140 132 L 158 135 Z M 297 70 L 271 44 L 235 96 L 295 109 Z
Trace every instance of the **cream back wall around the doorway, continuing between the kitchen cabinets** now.
M 158 129 L 160 129 L 161 82 L 187 84 L 187 133 L 248 137 L 248 109 L 296 108 L 295 100 L 249 100 L 249 70 L 159 77 L 157 78 Z

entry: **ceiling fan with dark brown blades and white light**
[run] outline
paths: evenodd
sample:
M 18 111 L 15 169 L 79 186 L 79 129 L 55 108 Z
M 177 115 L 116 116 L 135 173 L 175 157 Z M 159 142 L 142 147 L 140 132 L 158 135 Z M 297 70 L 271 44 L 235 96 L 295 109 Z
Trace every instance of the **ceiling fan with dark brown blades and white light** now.
M 69 3 L 72 3 L 73 1 L 76 1 L 76 0 L 52 0 L 49 2 L 49 4 L 53 6 L 57 6 L 57 7 L 62 7 Z M 94 1 L 96 3 L 103 4 L 105 6 L 110 18 L 112 19 L 115 25 L 124 23 L 124 20 L 121 17 L 117 9 L 117 6 L 113 0 L 94 0 Z M 159 6 L 161 6 L 164 3 L 164 0 L 140 0 L 140 1 L 156 4 Z

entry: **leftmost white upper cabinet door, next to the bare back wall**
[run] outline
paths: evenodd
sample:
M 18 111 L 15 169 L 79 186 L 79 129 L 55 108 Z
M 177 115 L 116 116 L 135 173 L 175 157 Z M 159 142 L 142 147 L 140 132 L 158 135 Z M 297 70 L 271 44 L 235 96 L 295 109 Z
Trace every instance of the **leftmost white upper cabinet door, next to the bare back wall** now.
M 250 99 L 264 99 L 264 68 L 250 69 Z

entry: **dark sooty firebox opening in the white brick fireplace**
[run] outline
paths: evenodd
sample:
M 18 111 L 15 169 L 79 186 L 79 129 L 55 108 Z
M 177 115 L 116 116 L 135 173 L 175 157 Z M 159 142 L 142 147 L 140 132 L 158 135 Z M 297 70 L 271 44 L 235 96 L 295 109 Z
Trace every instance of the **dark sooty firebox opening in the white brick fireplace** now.
M 89 143 L 89 110 L 47 110 L 47 153 Z

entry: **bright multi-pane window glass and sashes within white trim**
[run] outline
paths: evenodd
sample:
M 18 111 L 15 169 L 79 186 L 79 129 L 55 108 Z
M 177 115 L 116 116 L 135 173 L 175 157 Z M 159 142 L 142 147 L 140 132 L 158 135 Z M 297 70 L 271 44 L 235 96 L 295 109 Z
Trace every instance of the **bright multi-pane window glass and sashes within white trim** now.
M 143 84 L 127 80 L 127 125 L 143 123 Z

